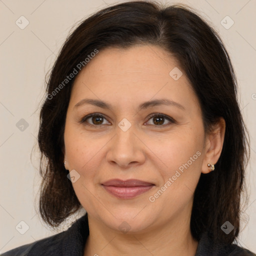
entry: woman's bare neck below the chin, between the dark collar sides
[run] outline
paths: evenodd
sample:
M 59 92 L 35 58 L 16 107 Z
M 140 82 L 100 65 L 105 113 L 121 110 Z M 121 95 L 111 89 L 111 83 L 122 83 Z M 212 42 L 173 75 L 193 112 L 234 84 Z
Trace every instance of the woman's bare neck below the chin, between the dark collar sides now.
M 190 232 L 190 216 L 179 215 L 167 224 L 133 234 L 107 228 L 89 215 L 88 221 L 90 231 L 84 256 L 194 256 L 198 245 Z

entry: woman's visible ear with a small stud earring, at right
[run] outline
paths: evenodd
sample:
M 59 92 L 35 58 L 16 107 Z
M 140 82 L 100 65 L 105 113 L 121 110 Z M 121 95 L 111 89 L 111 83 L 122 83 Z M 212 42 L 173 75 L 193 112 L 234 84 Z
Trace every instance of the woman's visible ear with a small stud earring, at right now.
M 204 141 L 204 158 L 202 162 L 202 173 L 210 172 L 208 163 L 216 164 L 224 142 L 225 135 L 225 120 L 223 117 L 219 117 L 218 122 L 214 125 L 214 128 L 206 135 Z

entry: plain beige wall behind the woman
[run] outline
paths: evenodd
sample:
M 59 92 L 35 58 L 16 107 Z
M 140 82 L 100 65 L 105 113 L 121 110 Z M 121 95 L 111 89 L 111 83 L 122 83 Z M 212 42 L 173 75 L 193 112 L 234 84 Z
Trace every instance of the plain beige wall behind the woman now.
M 46 228 L 36 213 L 39 185 L 36 147 L 38 105 L 44 93 L 45 74 L 69 30 L 88 14 L 114 2 L 121 1 L 0 0 L 0 252 L 49 236 L 66 228 L 72 221 L 69 219 L 62 229 L 52 231 Z M 182 2 L 197 9 L 219 32 L 230 53 L 239 84 L 240 108 L 251 140 L 251 159 L 246 172 L 249 198 L 242 228 L 247 225 L 241 231 L 238 243 L 256 252 L 256 2 L 164 2 Z M 21 15 L 29 21 L 24 29 L 15 24 Z M 220 23 L 226 15 L 234 21 L 229 29 Z M 228 22 L 231 20 L 227 21 L 227 25 L 230 24 Z M 16 126 L 21 118 L 28 123 L 23 131 Z M 32 148 L 34 154 L 30 159 Z M 16 225 L 20 226 L 20 221 L 28 226 L 24 234 L 15 229 Z M 26 225 L 21 223 L 21 226 L 24 231 Z

